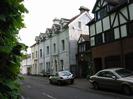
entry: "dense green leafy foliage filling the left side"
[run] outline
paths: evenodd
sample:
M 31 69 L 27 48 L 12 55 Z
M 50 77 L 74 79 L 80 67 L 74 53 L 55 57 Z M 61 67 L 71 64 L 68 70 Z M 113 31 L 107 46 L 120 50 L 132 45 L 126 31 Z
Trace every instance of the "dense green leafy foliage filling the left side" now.
M 24 27 L 23 0 L 0 0 L 0 99 L 19 99 L 21 50 L 18 33 Z

